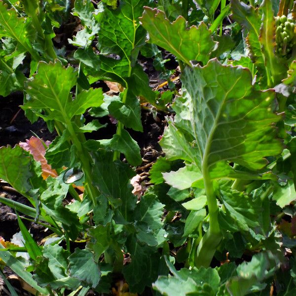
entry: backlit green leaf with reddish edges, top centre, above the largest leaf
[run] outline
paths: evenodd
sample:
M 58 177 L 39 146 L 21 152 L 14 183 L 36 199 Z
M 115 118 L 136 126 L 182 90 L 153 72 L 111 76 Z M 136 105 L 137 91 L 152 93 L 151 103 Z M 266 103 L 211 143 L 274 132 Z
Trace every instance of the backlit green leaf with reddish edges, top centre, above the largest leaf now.
M 187 30 L 184 17 L 180 16 L 175 22 L 170 23 L 164 12 L 149 7 L 145 8 L 140 19 L 149 33 L 149 42 L 170 51 L 186 64 L 190 65 L 192 60 L 205 64 L 209 60 L 215 42 L 211 38 L 211 31 L 204 23 Z

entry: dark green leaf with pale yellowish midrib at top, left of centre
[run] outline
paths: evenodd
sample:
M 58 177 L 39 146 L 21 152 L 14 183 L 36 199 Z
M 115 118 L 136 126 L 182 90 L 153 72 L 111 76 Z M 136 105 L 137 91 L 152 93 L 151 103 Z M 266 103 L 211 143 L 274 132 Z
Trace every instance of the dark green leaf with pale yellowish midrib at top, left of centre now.
M 138 18 L 147 3 L 146 0 L 124 0 L 120 1 L 117 9 L 112 9 L 106 4 L 100 7 L 100 11 L 94 15 L 100 24 L 98 34 L 100 54 L 95 55 L 91 48 L 87 48 L 78 49 L 74 55 L 93 69 L 88 70 L 89 74 L 92 72 L 92 75 L 95 74 L 98 78 L 117 81 L 127 86 L 125 78 L 131 76 L 140 47 L 144 45 L 146 37 Z M 108 55 L 118 55 L 119 59 Z M 148 90 L 148 85 L 145 88 Z M 148 94 L 151 96 L 151 90 Z

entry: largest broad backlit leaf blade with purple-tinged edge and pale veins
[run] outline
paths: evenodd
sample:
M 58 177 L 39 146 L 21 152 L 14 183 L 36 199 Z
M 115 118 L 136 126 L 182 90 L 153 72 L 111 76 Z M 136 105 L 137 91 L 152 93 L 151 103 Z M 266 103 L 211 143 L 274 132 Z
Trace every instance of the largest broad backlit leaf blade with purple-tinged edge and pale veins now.
M 182 81 L 201 167 L 211 171 L 228 160 L 258 170 L 267 163 L 264 156 L 281 152 L 273 127 L 281 117 L 271 110 L 274 92 L 255 90 L 249 70 L 211 60 L 186 68 Z

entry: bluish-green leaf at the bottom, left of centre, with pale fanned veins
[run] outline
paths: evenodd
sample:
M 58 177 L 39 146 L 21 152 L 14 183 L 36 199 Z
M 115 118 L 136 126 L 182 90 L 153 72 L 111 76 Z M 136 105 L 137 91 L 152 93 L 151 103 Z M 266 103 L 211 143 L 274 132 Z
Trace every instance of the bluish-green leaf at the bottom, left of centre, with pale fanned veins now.
M 74 253 L 68 258 L 70 275 L 81 282 L 85 282 L 95 288 L 101 278 L 98 264 L 93 258 L 93 254 L 87 250 L 75 249 Z

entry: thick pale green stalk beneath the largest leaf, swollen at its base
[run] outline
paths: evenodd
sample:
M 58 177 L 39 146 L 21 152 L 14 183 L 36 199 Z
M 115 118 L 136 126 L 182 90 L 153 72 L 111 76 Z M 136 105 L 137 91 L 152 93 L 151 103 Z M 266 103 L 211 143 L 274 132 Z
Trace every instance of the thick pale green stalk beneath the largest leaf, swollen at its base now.
M 210 226 L 198 245 L 195 256 L 195 266 L 209 267 L 216 249 L 222 240 L 222 233 L 218 221 L 219 207 L 217 205 L 217 199 L 210 178 L 207 161 L 203 162 L 202 173 L 207 195 Z

